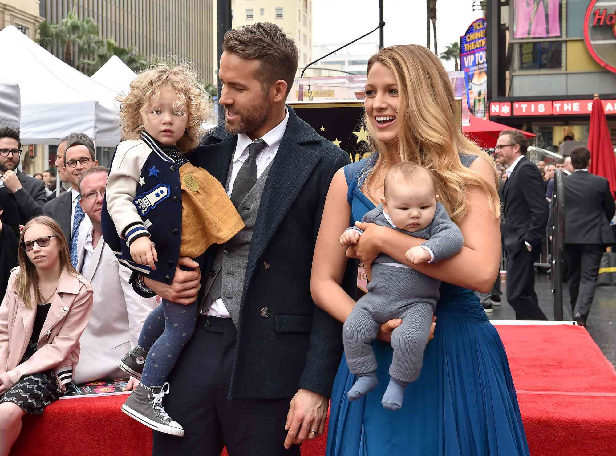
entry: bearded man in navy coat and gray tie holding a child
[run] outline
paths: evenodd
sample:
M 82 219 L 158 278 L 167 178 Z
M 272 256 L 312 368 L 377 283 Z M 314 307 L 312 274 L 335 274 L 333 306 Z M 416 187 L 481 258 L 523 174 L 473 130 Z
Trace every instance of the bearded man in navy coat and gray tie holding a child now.
M 298 50 L 278 26 L 230 30 L 223 49 L 225 124 L 190 160 L 221 181 L 246 227 L 208 250 L 203 274 L 142 279 L 184 304 L 201 288 L 197 327 L 164 399 L 185 435 L 154 433 L 153 454 L 217 456 L 225 445 L 240 456 L 299 455 L 323 433 L 342 354 L 342 325 L 312 301 L 310 268 L 331 179 L 349 157 L 285 106 Z M 351 294 L 349 264 L 341 280 Z

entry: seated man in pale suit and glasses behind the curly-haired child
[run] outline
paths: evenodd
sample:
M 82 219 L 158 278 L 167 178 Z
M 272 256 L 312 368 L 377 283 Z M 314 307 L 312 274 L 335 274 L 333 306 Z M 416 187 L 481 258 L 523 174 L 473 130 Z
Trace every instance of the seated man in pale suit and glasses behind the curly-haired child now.
M 118 361 L 137 344 L 145 318 L 156 307 L 155 298 L 137 295 L 129 283 L 131 271 L 122 266 L 103 240 L 100 211 L 105 199 L 107 174 L 103 166 L 94 166 L 79 179 L 79 201 L 91 224 L 79 230 L 77 271 L 92 284 L 94 306 L 79 344 L 81 355 L 73 380 L 76 383 L 121 378 Z M 137 387 L 131 379 L 129 389 Z

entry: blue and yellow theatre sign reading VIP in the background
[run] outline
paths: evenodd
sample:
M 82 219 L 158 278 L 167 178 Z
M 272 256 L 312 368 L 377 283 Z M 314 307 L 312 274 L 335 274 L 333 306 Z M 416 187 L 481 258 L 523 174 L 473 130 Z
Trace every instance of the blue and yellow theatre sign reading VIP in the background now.
M 485 118 L 487 61 L 485 59 L 485 19 L 474 20 L 460 36 L 460 70 L 464 71 L 466 102 L 472 115 Z

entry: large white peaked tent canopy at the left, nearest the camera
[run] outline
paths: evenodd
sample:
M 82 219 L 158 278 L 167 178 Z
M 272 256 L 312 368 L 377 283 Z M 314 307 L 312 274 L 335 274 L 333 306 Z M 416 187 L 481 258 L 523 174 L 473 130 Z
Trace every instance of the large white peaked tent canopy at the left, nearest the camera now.
M 57 59 L 12 25 L 0 31 L 2 78 L 19 84 L 21 138 L 25 144 L 57 144 L 73 132 L 99 146 L 120 142 L 115 92 Z

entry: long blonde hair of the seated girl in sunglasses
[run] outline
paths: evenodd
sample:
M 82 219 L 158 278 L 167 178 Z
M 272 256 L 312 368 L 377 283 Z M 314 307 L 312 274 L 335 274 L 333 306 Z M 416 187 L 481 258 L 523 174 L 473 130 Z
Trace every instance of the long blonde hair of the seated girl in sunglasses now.
M 78 275 L 78 272 L 71 264 L 71 254 L 68 250 L 67 238 L 64 237 L 62 232 L 62 228 L 60 228 L 59 224 L 55 222 L 54 219 L 47 216 L 39 216 L 33 219 L 30 219 L 25 226 L 23 227 L 22 234 L 19 237 L 19 248 L 17 258 L 19 260 L 19 272 L 17 273 L 17 278 L 15 279 L 15 284 L 17 285 L 17 296 L 22 300 L 22 303 L 31 308 L 38 301 L 38 272 L 36 272 L 36 266 L 32 264 L 30 258 L 28 258 L 28 254 L 25 250 L 23 250 L 23 236 L 28 231 L 28 228 L 35 224 L 45 225 L 51 228 L 53 234 L 57 237 L 52 238 L 52 242 L 55 239 L 58 243 L 58 248 L 60 250 L 60 271 L 67 269 L 71 274 Z

